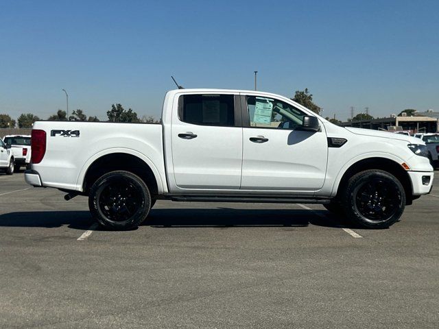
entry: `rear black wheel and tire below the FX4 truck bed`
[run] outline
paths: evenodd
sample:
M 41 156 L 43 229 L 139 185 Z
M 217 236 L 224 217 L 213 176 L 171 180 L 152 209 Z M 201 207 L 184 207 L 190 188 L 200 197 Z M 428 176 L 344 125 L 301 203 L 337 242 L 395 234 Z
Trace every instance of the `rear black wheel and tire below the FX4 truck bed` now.
M 137 228 L 151 208 L 150 190 L 129 171 L 111 171 L 97 179 L 88 195 L 88 208 L 110 230 Z

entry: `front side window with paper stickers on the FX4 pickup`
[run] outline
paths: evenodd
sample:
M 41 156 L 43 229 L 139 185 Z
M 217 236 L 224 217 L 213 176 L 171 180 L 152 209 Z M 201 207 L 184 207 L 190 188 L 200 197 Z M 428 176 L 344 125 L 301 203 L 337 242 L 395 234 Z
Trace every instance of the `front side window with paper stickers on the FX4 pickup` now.
M 294 130 L 300 127 L 305 112 L 283 101 L 267 97 L 247 96 L 251 127 Z

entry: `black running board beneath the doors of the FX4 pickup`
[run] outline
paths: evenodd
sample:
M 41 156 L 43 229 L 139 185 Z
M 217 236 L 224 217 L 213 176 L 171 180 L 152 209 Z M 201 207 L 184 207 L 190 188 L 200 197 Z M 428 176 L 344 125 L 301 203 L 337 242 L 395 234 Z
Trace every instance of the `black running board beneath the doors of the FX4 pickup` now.
M 178 195 L 169 197 L 176 202 L 250 202 L 268 204 L 329 204 L 331 199 L 316 197 L 209 197 L 206 195 Z

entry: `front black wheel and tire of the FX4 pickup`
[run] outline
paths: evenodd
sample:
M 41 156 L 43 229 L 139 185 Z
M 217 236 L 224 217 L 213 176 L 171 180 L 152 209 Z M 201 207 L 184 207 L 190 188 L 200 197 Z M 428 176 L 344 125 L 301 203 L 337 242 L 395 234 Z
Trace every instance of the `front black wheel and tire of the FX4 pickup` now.
M 342 192 L 348 219 L 363 228 L 388 228 L 405 208 L 405 191 L 394 175 L 381 170 L 361 171 Z

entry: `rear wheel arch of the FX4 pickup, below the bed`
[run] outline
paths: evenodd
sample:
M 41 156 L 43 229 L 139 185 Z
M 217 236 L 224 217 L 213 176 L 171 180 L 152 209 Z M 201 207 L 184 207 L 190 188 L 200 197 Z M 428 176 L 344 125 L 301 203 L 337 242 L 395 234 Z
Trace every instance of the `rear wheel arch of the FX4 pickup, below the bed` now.
M 138 175 L 150 188 L 151 195 L 163 193 L 160 175 L 152 161 L 137 151 L 126 149 L 106 151 L 93 156 L 84 165 L 78 185 L 82 187 L 84 194 L 88 194 L 97 178 L 116 170 L 130 171 Z

